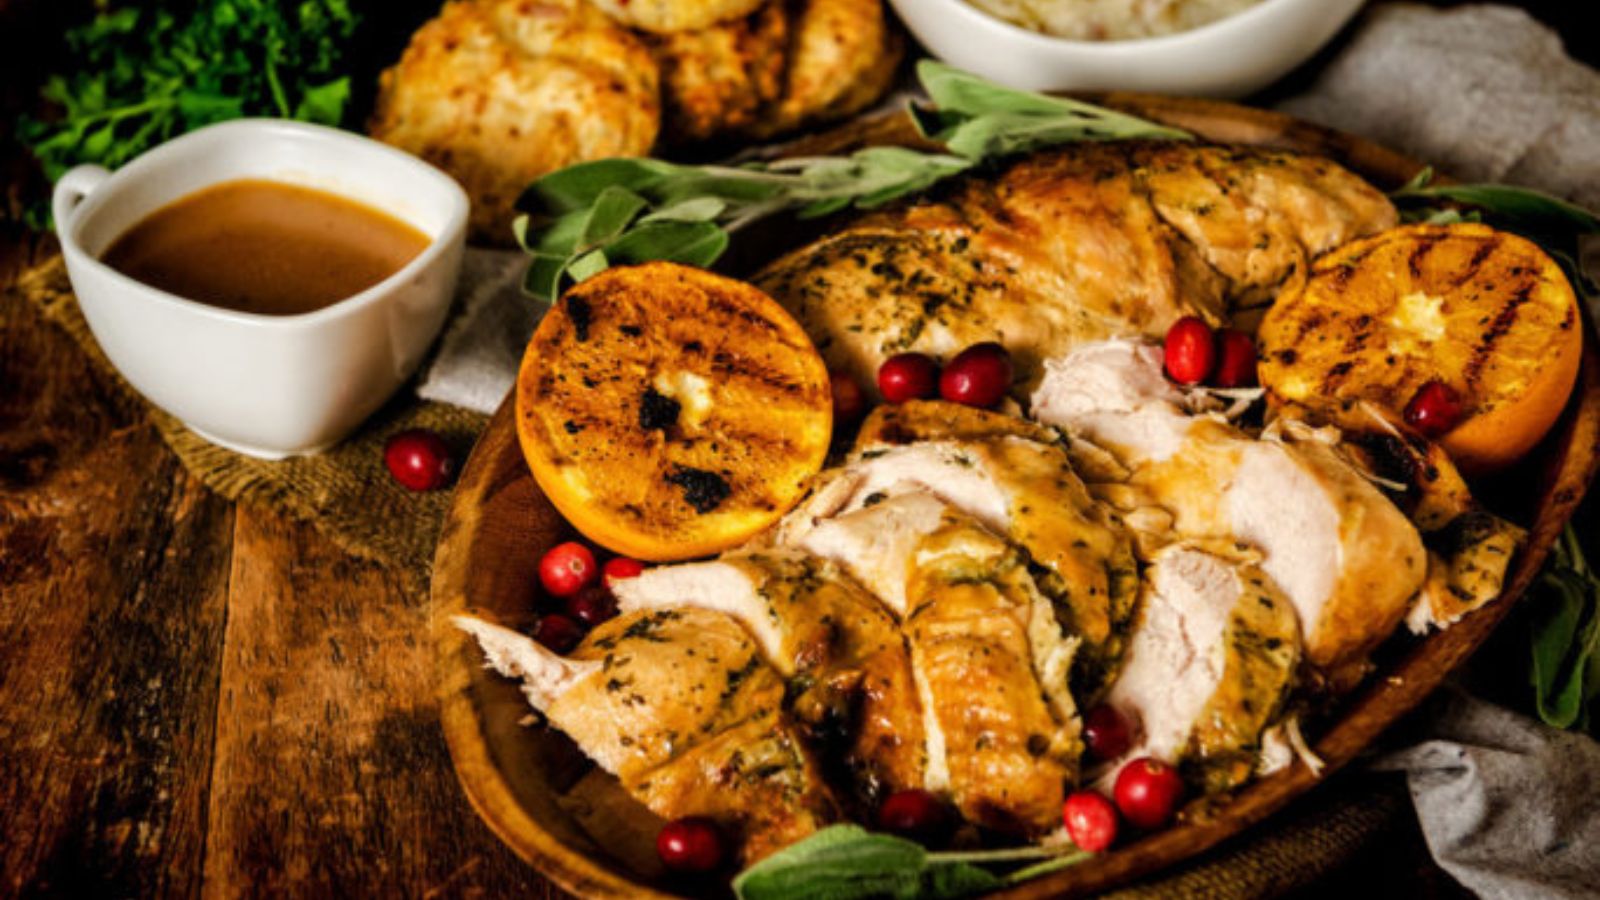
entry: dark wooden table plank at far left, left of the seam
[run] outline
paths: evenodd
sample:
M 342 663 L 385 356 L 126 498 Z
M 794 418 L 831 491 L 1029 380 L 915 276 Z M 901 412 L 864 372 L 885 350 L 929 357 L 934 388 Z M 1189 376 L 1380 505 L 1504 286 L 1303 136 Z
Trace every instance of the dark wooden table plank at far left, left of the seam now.
M 0 894 L 198 894 L 230 533 L 0 295 Z

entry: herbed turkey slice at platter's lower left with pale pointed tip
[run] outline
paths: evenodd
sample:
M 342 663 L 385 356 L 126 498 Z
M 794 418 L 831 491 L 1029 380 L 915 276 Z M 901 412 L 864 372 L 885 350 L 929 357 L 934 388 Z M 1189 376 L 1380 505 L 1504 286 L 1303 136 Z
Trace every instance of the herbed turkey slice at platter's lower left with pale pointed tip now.
M 837 817 L 784 679 L 733 618 L 642 610 L 597 626 L 568 657 L 458 617 L 488 663 L 522 681 L 552 725 L 662 818 L 710 815 L 755 862 Z

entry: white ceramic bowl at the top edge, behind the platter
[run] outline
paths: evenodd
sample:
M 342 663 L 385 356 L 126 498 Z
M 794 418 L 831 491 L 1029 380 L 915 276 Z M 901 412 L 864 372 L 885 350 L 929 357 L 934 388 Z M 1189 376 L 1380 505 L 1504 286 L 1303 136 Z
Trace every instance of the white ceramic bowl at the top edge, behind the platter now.
M 934 56 L 1034 91 L 1146 91 L 1238 98 L 1309 59 L 1362 0 L 1262 0 L 1187 32 L 1088 42 L 1032 32 L 965 0 L 891 0 Z

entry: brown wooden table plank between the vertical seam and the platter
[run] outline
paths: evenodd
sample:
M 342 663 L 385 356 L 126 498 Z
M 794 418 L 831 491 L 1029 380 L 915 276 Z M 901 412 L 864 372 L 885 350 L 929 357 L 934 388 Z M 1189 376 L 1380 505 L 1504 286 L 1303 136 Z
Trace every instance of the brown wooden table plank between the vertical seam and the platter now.
M 205 894 L 549 895 L 462 799 L 419 591 L 240 506 Z

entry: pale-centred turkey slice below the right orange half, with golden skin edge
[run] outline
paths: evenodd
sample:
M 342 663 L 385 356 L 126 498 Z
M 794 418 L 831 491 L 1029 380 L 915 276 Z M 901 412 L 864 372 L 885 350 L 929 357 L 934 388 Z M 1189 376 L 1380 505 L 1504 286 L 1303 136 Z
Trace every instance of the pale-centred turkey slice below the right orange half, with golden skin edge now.
M 1422 588 L 1416 527 L 1322 440 L 1256 439 L 1182 402 L 1162 376 L 1160 348 L 1104 341 L 1051 360 L 1032 412 L 1064 428 L 1077 455 L 1109 455 L 1082 468 L 1128 488 L 1125 504 L 1162 508 L 1176 536 L 1261 551 L 1299 613 L 1307 661 L 1325 673 L 1358 666 Z

